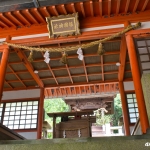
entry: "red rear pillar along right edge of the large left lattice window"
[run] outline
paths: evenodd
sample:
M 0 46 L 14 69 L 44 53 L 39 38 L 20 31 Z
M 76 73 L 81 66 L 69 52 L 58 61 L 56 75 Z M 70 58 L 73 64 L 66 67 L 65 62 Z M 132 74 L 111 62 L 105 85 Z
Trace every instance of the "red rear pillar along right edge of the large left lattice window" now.
M 40 90 L 40 101 L 38 111 L 38 127 L 37 127 L 37 139 L 41 139 L 42 136 L 42 125 L 43 125 L 43 108 L 44 108 L 44 88 Z

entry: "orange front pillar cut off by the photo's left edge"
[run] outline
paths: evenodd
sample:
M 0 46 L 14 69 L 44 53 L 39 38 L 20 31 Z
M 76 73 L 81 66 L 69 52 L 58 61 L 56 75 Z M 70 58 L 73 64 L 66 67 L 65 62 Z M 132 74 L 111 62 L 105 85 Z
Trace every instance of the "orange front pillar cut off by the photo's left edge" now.
M 6 46 L 6 48 L 3 49 L 1 63 L 0 63 L 0 103 L 3 94 L 3 86 L 5 81 L 8 57 L 9 57 L 9 49 L 8 46 Z

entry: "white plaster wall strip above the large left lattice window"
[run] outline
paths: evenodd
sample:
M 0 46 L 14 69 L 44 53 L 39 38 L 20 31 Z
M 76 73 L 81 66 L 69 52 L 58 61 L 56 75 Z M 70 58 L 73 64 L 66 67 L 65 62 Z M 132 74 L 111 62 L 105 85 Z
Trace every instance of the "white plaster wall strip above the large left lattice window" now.
M 40 89 L 5 91 L 2 100 L 40 97 Z

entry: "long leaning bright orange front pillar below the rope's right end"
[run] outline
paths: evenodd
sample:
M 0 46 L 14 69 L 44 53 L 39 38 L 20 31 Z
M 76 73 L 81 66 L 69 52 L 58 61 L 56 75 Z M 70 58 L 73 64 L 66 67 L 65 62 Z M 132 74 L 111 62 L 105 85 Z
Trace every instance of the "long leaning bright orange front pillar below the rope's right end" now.
M 132 35 L 127 35 L 126 41 L 127 41 L 129 58 L 130 58 L 134 88 L 135 88 L 135 93 L 137 98 L 141 129 L 143 133 L 146 133 L 146 129 L 149 127 L 149 123 L 148 123 L 145 100 L 144 100 L 143 90 L 141 85 L 141 77 L 140 77 L 140 71 L 138 66 L 138 60 L 137 60 L 137 55 L 136 55 L 136 50 L 135 50 L 134 40 Z

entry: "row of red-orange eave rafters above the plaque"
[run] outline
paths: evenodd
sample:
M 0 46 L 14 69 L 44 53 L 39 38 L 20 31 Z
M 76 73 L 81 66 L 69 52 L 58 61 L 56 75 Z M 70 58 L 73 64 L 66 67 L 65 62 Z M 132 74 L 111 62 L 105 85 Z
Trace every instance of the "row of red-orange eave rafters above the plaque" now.
M 79 13 L 85 17 L 114 17 L 150 10 L 149 0 L 87 0 L 41 8 L 0 13 L 0 30 L 46 24 L 45 17 Z

